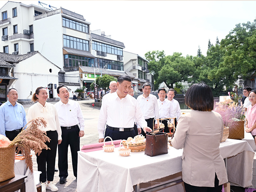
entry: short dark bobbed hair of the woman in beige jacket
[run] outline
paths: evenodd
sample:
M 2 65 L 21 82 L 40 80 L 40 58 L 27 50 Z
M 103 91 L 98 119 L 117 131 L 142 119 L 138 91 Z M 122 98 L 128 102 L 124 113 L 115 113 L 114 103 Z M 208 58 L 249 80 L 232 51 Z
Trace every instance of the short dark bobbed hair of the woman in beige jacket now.
M 214 101 L 211 88 L 204 82 L 191 85 L 186 92 L 185 103 L 194 110 L 212 111 Z

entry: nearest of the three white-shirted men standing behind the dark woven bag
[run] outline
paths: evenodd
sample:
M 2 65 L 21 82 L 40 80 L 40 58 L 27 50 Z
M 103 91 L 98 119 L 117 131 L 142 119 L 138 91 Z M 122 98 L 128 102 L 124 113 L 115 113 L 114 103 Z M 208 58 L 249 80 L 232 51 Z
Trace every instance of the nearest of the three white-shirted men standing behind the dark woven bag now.
M 149 83 L 144 83 L 142 85 L 143 94 L 138 96 L 137 101 L 142 110 L 143 116 L 148 123 L 148 127 L 153 129 L 153 120 L 158 118 L 158 104 L 157 98 L 155 95 L 150 94 L 151 85 Z M 157 121 L 154 125 L 155 129 L 157 128 Z M 143 133 L 144 135 L 144 133 Z

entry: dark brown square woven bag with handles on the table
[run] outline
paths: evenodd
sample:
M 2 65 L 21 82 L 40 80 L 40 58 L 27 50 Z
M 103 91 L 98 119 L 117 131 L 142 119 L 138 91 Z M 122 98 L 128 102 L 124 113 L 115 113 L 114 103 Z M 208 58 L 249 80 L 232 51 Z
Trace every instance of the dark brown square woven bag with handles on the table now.
M 168 135 L 165 132 L 156 132 L 154 131 L 148 132 L 146 139 L 146 149 L 145 154 L 148 156 L 157 156 L 161 154 L 168 153 Z

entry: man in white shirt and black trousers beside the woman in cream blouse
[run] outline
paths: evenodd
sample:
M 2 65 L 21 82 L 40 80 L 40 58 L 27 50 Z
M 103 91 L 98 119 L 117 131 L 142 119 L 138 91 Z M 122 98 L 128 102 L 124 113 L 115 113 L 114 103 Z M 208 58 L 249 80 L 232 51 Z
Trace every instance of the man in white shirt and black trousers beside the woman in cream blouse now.
M 58 146 L 58 166 L 60 184 L 64 184 L 68 177 L 68 145 L 71 150 L 74 176 L 77 177 L 77 151 L 80 150 L 80 137 L 84 136 L 84 118 L 79 103 L 69 99 L 68 87 L 60 85 L 57 93 L 60 101 L 54 106 L 58 112 L 62 131 L 62 142 Z

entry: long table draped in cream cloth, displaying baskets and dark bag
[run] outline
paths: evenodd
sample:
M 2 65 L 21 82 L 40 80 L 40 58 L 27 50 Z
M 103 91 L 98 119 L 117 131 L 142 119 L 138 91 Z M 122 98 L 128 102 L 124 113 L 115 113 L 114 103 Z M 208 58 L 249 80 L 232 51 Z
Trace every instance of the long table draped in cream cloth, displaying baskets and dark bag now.
M 133 152 L 122 157 L 116 148 L 113 153 L 78 151 L 77 191 L 90 188 L 99 192 L 132 192 L 137 184 L 179 174 L 182 171 L 182 152 L 183 149 L 170 147 L 168 154 L 159 156 Z M 227 158 L 230 182 L 242 187 L 252 185 L 254 152 L 247 141 L 227 139 L 220 143 L 220 154 Z

